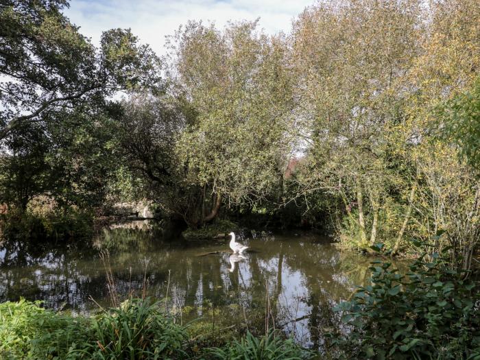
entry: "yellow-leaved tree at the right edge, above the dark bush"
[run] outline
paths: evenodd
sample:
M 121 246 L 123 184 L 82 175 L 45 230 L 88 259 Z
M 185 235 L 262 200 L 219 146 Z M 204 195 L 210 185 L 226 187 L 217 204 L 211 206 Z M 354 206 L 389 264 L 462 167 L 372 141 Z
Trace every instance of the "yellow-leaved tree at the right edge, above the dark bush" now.
M 407 108 L 413 131 L 430 140 L 419 141 L 412 154 L 421 183 L 414 203 L 418 221 L 411 224 L 411 233 L 433 239 L 431 245 L 439 249 L 453 247 L 451 255 L 460 254 L 460 265 L 469 267 L 480 233 L 480 188 L 472 152 L 479 139 L 475 81 L 480 75 L 480 3 L 435 1 L 427 11 L 428 31 L 409 77 L 415 89 Z

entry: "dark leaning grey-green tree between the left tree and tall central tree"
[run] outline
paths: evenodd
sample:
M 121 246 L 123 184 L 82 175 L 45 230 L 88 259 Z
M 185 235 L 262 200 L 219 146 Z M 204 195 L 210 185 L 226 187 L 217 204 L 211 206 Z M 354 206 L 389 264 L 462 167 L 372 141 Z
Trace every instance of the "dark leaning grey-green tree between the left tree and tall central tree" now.
M 123 108 L 118 136 L 125 164 L 167 215 L 193 226 L 200 189 L 186 182 L 174 149 L 195 114 L 178 99 L 147 93 L 134 95 Z

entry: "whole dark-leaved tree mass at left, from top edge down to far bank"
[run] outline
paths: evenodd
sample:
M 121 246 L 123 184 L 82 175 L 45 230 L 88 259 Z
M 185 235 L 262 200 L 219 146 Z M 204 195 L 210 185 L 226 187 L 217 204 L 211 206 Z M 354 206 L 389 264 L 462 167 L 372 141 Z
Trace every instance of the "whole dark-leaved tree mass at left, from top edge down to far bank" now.
M 23 209 L 36 195 L 102 204 L 117 165 L 110 132 L 119 106 L 110 97 L 163 88 L 160 60 L 130 29 L 104 32 L 96 49 L 62 14 L 67 6 L 0 5 L 1 200 Z

